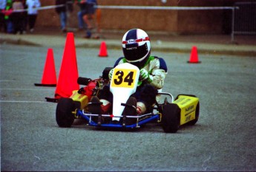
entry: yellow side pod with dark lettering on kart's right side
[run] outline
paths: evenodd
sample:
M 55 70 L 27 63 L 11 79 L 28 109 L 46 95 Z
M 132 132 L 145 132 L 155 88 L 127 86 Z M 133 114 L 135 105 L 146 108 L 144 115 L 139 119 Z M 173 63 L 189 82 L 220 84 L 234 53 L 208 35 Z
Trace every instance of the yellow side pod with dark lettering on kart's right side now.
M 173 103 L 180 108 L 180 125 L 196 119 L 196 109 L 199 98 L 189 95 L 178 95 Z

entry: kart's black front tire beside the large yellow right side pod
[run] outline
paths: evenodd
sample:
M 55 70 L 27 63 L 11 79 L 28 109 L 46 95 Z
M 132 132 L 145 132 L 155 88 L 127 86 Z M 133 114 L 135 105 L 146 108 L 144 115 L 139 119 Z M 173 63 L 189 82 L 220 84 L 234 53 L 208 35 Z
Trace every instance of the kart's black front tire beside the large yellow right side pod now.
M 177 104 L 167 103 L 163 106 L 163 131 L 176 133 L 180 127 L 180 108 Z

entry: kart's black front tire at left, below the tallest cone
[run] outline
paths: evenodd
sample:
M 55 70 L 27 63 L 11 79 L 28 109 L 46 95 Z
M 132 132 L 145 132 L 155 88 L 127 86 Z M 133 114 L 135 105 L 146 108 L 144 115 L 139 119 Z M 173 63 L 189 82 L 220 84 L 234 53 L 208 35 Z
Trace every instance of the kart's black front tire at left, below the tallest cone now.
M 75 116 L 72 114 L 74 111 L 74 103 L 70 98 L 60 98 L 56 107 L 56 122 L 59 127 L 68 128 L 73 124 Z

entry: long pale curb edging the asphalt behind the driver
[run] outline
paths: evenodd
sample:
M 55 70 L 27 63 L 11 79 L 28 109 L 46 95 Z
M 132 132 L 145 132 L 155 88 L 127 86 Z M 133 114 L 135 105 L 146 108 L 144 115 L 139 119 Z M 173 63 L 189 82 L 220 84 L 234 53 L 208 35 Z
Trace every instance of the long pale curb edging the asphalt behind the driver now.
M 14 35 L 15 36 L 15 35 Z M 15 45 L 26 45 L 26 46 L 35 46 L 35 47 L 49 47 L 50 42 L 47 45 L 39 41 L 36 41 L 38 38 L 21 38 L 20 36 L 16 36 L 15 38 L 11 35 L 1 36 L 0 44 L 15 44 Z M 42 35 L 41 37 L 42 38 Z M 52 37 L 49 37 L 52 38 Z M 33 41 L 33 39 L 35 41 Z M 57 39 L 57 38 L 56 38 Z M 65 37 L 58 38 L 56 41 L 59 44 L 52 43 L 52 46 L 60 46 L 65 45 Z M 86 42 L 85 42 L 86 41 Z M 97 48 L 100 47 L 100 42 L 105 41 L 108 49 L 121 49 L 121 44 L 116 40 L 85 40 L 82 38 L 76 38 L 76 47 L 77 48 Z M 231 44 L 202 44 L 202 43 L 184 43 L 184 42 L 176 42 L 176 43 L 168 43 L 166 41 L 151 41 L 152 49 L 158 52 L 180 52 L 180 53 L 190 53 L 191 47 L 197 45 L 198 52 L 201 54 L 210 54 L 210 55 L 241 55 L 241 56 L 253 56 L 256 57 L 256 46 L 244 46 L 244 45 L 231 45 Z

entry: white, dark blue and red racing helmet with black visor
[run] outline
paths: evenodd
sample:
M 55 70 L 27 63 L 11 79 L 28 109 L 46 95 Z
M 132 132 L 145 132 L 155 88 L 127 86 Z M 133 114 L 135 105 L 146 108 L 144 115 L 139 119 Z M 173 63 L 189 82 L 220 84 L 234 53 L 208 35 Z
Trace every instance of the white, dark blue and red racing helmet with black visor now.
M 122 51 L 126 61 L 140 67 L 151 53 L 148 34 L 140 29 L 128 30 L 122 37 Z

